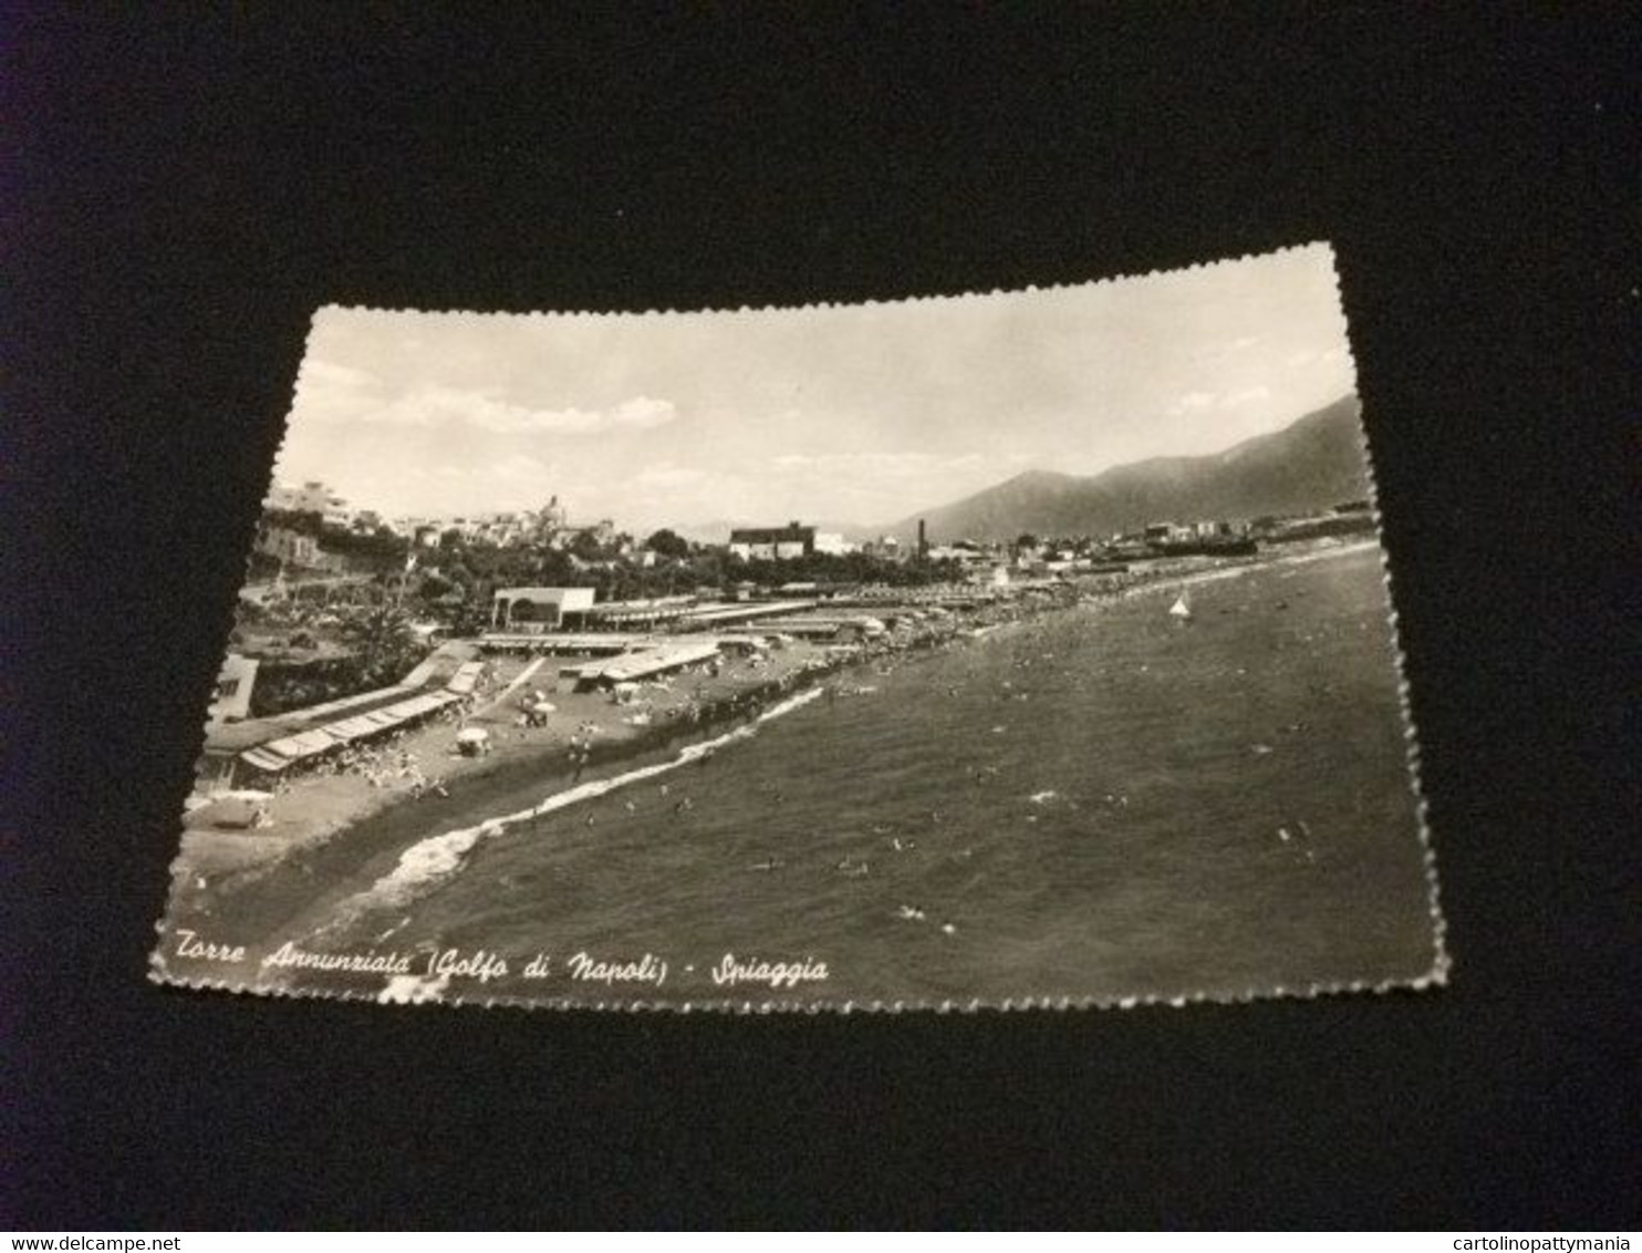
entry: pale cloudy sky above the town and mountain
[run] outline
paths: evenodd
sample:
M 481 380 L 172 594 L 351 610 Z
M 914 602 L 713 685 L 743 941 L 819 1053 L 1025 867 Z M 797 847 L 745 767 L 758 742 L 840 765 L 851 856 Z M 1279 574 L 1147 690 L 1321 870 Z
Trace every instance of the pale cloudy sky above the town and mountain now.
M 276 465 L 384 516 L 875 526 L 1023 470 L 1210 453 L 1353 389 L 1327 246 L 1054 291 L 315 317 Z

